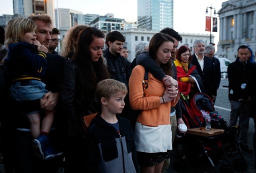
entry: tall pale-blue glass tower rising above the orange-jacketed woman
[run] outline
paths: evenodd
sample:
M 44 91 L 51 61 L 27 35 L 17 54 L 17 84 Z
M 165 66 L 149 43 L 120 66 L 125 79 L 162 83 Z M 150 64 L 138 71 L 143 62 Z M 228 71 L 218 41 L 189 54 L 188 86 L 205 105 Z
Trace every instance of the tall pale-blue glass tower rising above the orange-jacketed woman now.
M 137 20 L 139 28 L 173 28 L 173 0 L 137 0 Z

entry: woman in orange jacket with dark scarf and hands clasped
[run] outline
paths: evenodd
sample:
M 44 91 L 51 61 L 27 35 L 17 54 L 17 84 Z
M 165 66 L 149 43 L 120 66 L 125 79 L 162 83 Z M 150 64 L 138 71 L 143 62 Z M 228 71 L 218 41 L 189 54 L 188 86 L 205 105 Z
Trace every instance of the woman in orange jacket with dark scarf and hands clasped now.
M 139 56 L 150 55 L 171 75 L 170 51 L 173 39 L 164 33 L 156 33 L 150 39 L 148 52 Z M 148 53 L 148 54 L 146 54 Z M 148 87 L 143 89 L 141 81 L 145 69 L 142 65 L 133 68 L 129 78 L 129 101 L 132 109 L 141 110 L 134 128 L 134 140 L 140 172 L 161 172 L 163 161 L 170 157 L 171 125 L 170 107 L 179 98 L 175 86 L 165 87 L 164 83 L 148 72 Z

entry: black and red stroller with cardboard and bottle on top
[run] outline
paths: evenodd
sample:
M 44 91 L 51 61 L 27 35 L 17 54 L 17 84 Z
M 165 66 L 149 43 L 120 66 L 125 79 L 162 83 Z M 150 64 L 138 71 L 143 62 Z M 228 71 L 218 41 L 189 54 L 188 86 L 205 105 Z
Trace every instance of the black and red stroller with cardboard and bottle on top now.
M 190 101 L 182 100 L 180 102 L 182 118 L 188 129 L 205 125 L 202 110 L 218 115 L 210 97 L 204 93 L 196 93 Z M 218 115 L 218 117 L 221 116 Z M 186 168 L 196 170 L 193 165 L 200 164 L 208 165 L 207 172 L 209 169 L 211 172 L 217 172 L 215 165 L 220 165 L 223 161 L 226 163 L 220 166 L 220 172 L 234 172 L 234 169 L 244 172 L 247 169 L 247 163 L 237 140 L 236 130 L 238 129 L 229 127 L 223 118 L 214 119 L 212 117 L 211 126 L 222 128 L 224 132 L 212 136 L 186 133 L 181 139 L 178 139 L 181 148 L 179 157 L 172 164 L 174 170 L 182 171 Z

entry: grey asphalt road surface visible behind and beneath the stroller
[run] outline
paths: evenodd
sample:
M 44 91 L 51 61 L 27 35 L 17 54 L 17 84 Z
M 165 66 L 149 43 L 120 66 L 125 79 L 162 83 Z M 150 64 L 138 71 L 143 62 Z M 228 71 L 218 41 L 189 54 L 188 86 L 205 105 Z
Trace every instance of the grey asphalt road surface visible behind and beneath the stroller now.
M 227 86 L 228 85 L 228 80 L 227 79 L 222 79 L 220 82 L 220 87 L 217 91 L 217 98 L 216 98 L 216 102 L 215 102 L 215 110 L 218 111 L 218 114 L 222 115 L 224 120 L 227 121 L 227 123 L 229 123 L 229 113 L 230 113 L 230 103 L 228 101 L 228 89 L 227 87 L 223 87 L 223 86 Z M 249 129 L 248 129 L 248 145 L 250 148 L 253 148 L 252 146 L 252 137 L 253 137 L 253 133 L 254 133 L 254 122 L 253 119 L 250 118 L 249 121 Z M 180 147 L 180 146 L 178 146 Z M 173 152 L 172 157 L 171 157 L 171 164 L 169 165 L 168 169 L 165 171 L 167 173 L 172 172 L 178 172 L 176 170 L 173 169 L 173 162 L 174 160 L 179 156 L 179 152 Z M 254 162 L 255 162 L 255 154 L 254 153 L 247 153 L 247 152 L 243 152 L 243 156 L 245 158 L 245 161 L 247 163 L 247 169 L 245 172 L 256 172 L 255 168 L 254 168 Z M 239 155 L 238 155 L 239 157 Z M 229 158 L 228 160 L 233 161 L 232 158 L 236 158 L 236 156 L 233 156 L 231 158 Z M 225 160 L 220 162 L 220 163 L 215 163 L 215 172 L 219 172 L 219 168 L 221 164 L 224 164 Z M 202 163 L 200 161 L 198 161 L 196 163 L 197 166 L 195 167 L 190 167 L 190 169 L 186 169 L 183 170 L 181 172 L 212 172 L 212 168 L 209 164 L 205 164 Z M 235 171 L 237 172 L 237 171 Z M 4 169 L 3 169 L 3 164 L 0 163 L 0 173 L 5 173 Z M 63 173 L 63 168 L 60 168 L 59 171 L 57 173 Z

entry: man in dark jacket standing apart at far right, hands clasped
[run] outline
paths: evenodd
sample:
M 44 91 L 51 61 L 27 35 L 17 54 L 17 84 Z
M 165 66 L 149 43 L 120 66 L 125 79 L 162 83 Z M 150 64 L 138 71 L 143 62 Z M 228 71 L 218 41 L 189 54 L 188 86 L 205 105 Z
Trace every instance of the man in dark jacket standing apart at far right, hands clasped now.
M 242 150 L 252 152 L 247 144 L 247 131 L 249 128 L 249 113 L 251 109 L 251 98 L 253 97 L 251 85 L 252 65 L 248 60 L 250 50 L 246 45 L 237 49 L 237 58 L 227 67 L 228 75 L 228 99 L 231 105 L 229 126 L 234 126 L 239 117 L 239 143 Z

